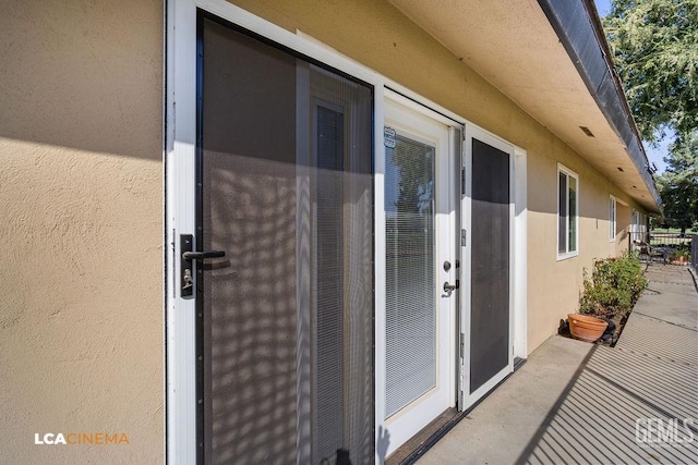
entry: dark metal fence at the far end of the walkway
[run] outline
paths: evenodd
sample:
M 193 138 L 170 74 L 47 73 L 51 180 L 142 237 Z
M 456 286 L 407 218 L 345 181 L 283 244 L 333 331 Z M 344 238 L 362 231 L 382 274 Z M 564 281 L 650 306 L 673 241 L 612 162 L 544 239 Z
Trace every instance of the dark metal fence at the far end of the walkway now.
M 628 249 L 639 254 L 640 260 L 690 265 L 698 271 L 698 235 L 677 233 L 628 233 Z

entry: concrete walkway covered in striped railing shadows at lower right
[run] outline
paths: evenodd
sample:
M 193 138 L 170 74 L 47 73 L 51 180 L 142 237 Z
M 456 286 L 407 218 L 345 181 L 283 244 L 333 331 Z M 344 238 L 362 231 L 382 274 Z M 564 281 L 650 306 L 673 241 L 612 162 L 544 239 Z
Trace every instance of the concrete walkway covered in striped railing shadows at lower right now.
M 678 272 L 649 276 L 661 294 L 640 298 L 616 347 L 593 347 L 517 464 L 698 463 L 698 301 Z

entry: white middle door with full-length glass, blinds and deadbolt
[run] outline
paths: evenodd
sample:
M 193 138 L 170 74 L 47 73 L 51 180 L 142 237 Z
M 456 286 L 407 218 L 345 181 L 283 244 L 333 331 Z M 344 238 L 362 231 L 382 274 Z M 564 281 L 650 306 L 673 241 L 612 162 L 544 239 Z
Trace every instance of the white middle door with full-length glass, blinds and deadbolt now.
M 385 415 L 389 453 L 454 405 L 449 127 L 386 100 Z M 446 289 L 444 287 L 446 285 Z

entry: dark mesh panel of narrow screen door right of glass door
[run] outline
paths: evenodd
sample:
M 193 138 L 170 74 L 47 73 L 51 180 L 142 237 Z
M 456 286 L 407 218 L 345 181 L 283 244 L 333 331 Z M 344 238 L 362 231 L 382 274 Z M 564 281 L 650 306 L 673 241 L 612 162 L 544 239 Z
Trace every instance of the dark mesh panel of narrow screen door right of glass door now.
M 472 140 L 470 392 L 509 363 L 509 156 Z

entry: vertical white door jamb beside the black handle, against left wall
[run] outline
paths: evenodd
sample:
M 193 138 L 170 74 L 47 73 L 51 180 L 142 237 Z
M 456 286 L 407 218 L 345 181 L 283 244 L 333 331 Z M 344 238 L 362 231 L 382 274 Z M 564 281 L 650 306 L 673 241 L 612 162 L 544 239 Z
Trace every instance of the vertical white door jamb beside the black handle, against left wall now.
M 179 234 L 195 232 L 196 8 L 191 1 L 168 1 L 166 76 L 166 460 L 192 464 L 196 463 L 195 301 L 180 296 L 178 259 Z

